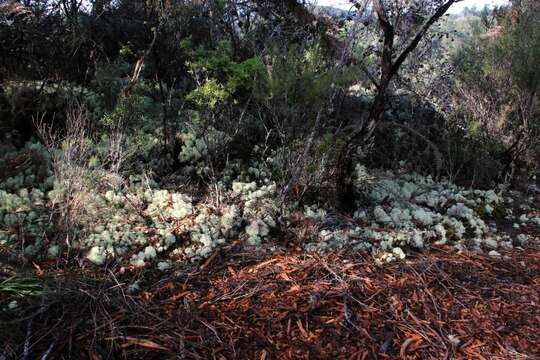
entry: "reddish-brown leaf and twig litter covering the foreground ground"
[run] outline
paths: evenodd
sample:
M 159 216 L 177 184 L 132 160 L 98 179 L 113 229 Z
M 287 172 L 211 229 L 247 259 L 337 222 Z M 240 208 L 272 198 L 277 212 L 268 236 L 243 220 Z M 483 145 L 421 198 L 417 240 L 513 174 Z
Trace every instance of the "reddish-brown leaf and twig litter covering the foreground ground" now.
M 228 254 L 143 283 L 135 297 L 102 286 L 93 311 L 79 305 L 69 331 L 31 350 L 53 344 L 51 358 L 96 360 L 539 359 L 540 251 L 511 256 L 437 250 L 379 267 L 359 252 Z

